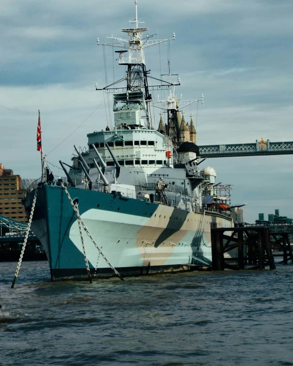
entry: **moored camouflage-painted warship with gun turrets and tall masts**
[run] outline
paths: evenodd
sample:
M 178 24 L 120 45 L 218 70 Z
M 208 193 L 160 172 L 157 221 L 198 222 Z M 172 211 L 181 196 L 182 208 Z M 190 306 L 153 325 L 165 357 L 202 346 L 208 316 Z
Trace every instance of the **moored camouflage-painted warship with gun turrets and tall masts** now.
M 152 77 L 145 66 L 144 50 L 175 34 L 155 39 L 139 23 L 135 1 L 135 20 L 121 29 L 128 38 L 104 45 L 97 39 L 99 47 L 117 49 L 125 68 L 120 80 L 95 88 L 113 95 L 114 125 L 89 133 L 86 149 L 74 145 L 70 164 L 60 161 L 66 180 L 44 179 L 24 199 L 28 218 L 34 209 L 31 228 L 52 281 L 86 279 L 87 266 L 92 278 L 115 276 L 113 269 L 130 276 L 208 267 L 211 228 L 234 226 L 227 198 L 217 194 L 215 170 L 200 169 L 192 116 L 185 121 L 184 106 L 203 103 L 203 96 L 182 105 L 175 94 L 180 78 L 173 82 L 170 69 L 168 81 Z M 157 129 L 154 90 L 168 91 Z

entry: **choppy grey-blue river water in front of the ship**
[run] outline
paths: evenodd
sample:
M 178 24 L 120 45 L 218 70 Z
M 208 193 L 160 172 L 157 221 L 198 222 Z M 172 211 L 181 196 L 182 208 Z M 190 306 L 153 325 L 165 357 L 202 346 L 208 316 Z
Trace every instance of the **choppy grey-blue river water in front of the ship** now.
M 0 365 L 293 365 L 293 266 L 50 283 L 0 263 Z

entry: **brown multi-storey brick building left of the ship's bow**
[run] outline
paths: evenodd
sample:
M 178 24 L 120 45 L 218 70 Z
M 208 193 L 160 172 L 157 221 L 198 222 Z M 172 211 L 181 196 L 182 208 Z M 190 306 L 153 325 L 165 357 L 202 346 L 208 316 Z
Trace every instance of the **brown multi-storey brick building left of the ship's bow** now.
M 17 221 L 27 221 L 22 198 L 26 190 L 22 189 L 22 178 L 13 175 L 11 169 L 5 169 L 0 163 L 0 214 Z

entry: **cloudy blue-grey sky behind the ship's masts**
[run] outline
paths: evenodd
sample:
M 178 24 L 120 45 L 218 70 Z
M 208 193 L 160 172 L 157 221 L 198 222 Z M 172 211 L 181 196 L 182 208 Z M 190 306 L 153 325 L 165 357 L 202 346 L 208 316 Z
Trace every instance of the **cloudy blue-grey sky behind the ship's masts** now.
M 105 108 L 95 91 L 96 82 L 106 82 L 96 39 L 120 36 L 135 17 L 133 3 L 1 1 L 0 163 L 14 174 L 40 176 L 38 109 L 55 175 L 62 175 L 54 166 L 59 160 L 70 163 L 74 144 L 87 146 L 87 133 L 110 123 L 107 99 Z M 291 0 L 138 0 L 138 18 L 149 34 L 176 34 L 170 65 L 181 79 L 177 96 L 204 95 L 198 113 L 195 104 L 185 110 L 187 121 L 190 113 L 197 116 L 198 145 L 293 141 L 292 14 Z M 168 73 L 167 44 L 146 50 L 145 57 L 154 77 Z M 124 76 L 115 59 L 113 67 L 110 48 L 106 67 L 109 83 Z M 244 220 L 253 223 L 259 212 L 267 217 L 275 208 L 293 216 L 292 161 L 293 155 L 217 158 L 203 166 L 215 168 L 217 182 L 233 185 L 232 202 L 247 203 Z

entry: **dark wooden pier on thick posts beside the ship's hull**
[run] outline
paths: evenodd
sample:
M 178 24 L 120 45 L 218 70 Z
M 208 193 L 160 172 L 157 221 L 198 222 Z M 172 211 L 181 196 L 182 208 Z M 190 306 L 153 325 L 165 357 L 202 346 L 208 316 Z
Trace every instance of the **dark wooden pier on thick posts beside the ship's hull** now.
M 231 235 L 228 235 L 232 232 Z M 268 227 L 214 228 L 212 235 L 212 269 L 276 269 L 274 256 L 282 256 L 279 263 L 293 264 L 288 232 L 270 232 Z M 281 248 L 282 254 L 273 253 Z

